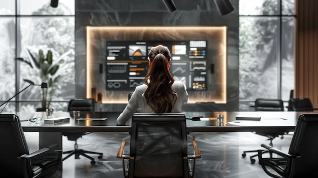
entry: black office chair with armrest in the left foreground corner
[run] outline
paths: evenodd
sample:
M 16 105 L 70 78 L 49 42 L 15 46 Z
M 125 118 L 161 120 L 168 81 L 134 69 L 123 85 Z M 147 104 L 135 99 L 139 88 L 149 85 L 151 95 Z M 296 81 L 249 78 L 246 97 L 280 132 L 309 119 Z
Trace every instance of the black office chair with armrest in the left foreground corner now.
M 57 144 L 29 153 L 19 117 L 14 114 L 0 115 L 0 135 L 2 176 L 49 177 L 61 165 Z

